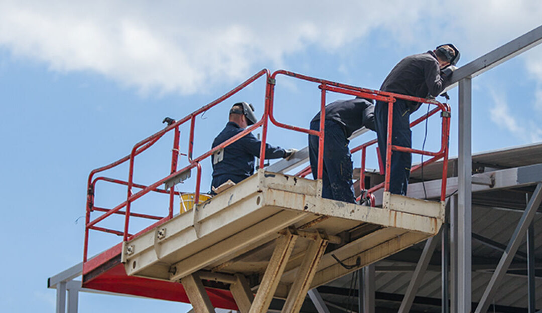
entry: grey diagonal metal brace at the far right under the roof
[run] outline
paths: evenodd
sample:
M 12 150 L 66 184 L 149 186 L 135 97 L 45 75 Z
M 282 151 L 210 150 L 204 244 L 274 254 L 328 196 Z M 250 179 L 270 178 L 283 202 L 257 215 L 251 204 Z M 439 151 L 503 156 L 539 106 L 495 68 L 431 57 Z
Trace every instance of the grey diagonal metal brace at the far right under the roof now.
M 506 251 L 502 253 L 502 257 L 497 265 L 495 272 L 493 273 L 489 284 L 487 285 L 486 290 L 483 292 L 482 298 L 478 307 L 476 307 L 475 313 L 485 313 L 489 307 L 490 302 L 495 296 L 495 292 L 502 280 L 502 277 L 506 274 L 508 266 L 512 263 L 513 256 L 516 251 L 518 251 L 519 246 L 522 243 L 523 238 L 527 232 L 531 221 L 534 218 L 534 213 L 536 212 L 538 206 L 542 202 L 542 182 L 537 185 L 537 188 L 534 190 L 531 200 L 529 201 L 525 212 L 521 216 L 518 225 L 516 226 L 512 238 L 506 247 Z

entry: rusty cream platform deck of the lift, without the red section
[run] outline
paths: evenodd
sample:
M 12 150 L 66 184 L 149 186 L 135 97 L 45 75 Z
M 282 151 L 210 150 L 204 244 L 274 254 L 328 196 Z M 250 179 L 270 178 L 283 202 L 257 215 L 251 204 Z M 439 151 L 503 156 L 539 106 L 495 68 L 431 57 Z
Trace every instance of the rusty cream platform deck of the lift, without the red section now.
M 367 207 L 320 197 L 321 182 L 258 171 L 141 236 L 125 243 L 122 262 L 128 275 L 179 281 L 197 271 L 261 277 L 275 239 L 289 229 L 298 234 L 276 290 L 287 295 L 310 237 L 329 240 L 311 288 L 325 284 L 434 236 L 443 221 L 443 204 L 385 195 L 388 207 Z M 386 202 L 386 199 L 387 202 Z

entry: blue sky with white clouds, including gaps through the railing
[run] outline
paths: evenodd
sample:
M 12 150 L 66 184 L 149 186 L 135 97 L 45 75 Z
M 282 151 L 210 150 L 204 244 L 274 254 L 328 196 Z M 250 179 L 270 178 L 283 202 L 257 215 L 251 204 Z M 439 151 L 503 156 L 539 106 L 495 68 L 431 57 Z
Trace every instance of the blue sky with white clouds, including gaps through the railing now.
M 378 89 L 404 56 L 453 42 L 461 49 L 457 65 L 462 66 L 538 27 L 540 16 L 538 0 L 0 0 L 0 307 L 54 311 L 55 291 L 46 288 L 47 278 L 82 260 L 88 173 L 130 153 L 134 144 L 164 127 L 165 116 L 180 119 L 263 68 Z M 318 112 L 317 86 L 280 76 L 275 92 L 276 118 L 307 127 Z M 453 156 L 457 89 L 449 94 Z M 347 98 L 326 96 L 328 101 Z M 251 102 L 261 114 L 263 99 L 260 79 L 199 116 L 195 155 L 210 148 L 234 102 Z M 438 119 L 428 123 L 426 148 L 438 145 L 438 129 Z M 374 137 L 363 135 L 351 147 Z M 414 146 L 421 147 L 424 137 L 420 126 L 413 133 Z M 183 153 L 187 139 L 183 126 Z M 271 144 L 300 148 L 306 141 L 306 135 L 270 127 Z M 542 142 L 542 47 L 473 79 L 473 152 L 535 142 Z M 165 177 L 171 147 L 172 136 L 166 135 L 138 156 L 134 181 L 151 184 Z M 354 155 L 354 166 L 359 158 Z M 186 156 L 179 162 L 186 165 Z M 208 191 L 210 161 L 203 165 L 202 191 Z M 376 166 L 375 156 L 368 166 Z M 123 165 L 107 176 L 126 179 L 127 171 Z M 179 190 L 193 190 L 194 177 Z M 103 183 L 96 189 L 96 205 L 114 207 L 125 198 L 125 187 Z M 165 214 L 166 203 L 149 196 L 134 208 Z M 122 227 L 120 219 L 104 222 L 104 227 Z M 145 225 L 134 221 L 131 230 Z M 120 240 L 94 231 L 89 253 Z M 82 313 L 120 308 L 184 312 L 190 306 L 79 297 Z

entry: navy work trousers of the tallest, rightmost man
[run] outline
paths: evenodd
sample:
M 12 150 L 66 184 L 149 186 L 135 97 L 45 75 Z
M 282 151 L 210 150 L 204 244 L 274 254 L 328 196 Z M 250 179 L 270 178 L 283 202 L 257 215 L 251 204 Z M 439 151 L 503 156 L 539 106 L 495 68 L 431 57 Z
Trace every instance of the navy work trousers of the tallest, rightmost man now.
M 386 140 L 388 139 L 388 102 L 377 101 L 375 107 L 375 123 L 378 135 L 380 158 L 385 169 Z M 391 144 L 394 146 L 412 147 L 412 132 L 410 131 L 410 110 L 405 100 L 397 99 L 393 103 L 393 122 Z M 412 154 L 392 151 L 390 169 L 390 192 L 406 195 L 406 187 L 410 178 Z

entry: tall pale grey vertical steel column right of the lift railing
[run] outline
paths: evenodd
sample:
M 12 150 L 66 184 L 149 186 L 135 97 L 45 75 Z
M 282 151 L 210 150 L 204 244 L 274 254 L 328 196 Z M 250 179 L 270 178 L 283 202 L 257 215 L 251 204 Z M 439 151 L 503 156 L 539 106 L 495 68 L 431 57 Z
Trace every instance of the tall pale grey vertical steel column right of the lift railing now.
M 472 310 L 472 79 L 459 81 L 457 160 L 457 312 Z

